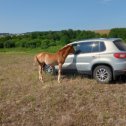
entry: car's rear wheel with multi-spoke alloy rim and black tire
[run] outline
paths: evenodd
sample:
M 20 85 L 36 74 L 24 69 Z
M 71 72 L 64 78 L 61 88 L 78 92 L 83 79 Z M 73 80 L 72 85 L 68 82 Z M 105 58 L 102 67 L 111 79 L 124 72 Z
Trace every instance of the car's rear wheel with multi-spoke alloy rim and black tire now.
M 93 77 L 100 83 L 110 83 L 112 81 L 111 68 L 105 65 L 97 66 L 93 71 Z

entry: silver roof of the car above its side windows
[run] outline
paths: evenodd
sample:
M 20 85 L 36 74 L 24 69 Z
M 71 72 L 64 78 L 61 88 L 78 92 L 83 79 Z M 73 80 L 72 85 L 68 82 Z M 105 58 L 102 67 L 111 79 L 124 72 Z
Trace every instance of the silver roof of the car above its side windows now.
M 71 42 L 70 44 L 81 43 L 81 42 L 90 42 L 90 41 L 94 41 L 94 42 L 110 41 L 110 42 L 113 42 L 113 41 L 116 41 L 116 40 L 122 40 L 122 39 L 121 38 L 94 38 L 94 39 L 85 39 L 85 40 L 74 41 L 74 42 Z

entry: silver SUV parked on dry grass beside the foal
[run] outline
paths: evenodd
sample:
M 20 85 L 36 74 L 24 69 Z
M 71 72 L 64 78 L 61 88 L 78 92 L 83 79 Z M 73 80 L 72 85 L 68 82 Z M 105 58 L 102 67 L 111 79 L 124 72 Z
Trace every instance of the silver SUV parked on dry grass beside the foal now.
M 117 76 L 126 73 L 126 44 L 120 38 L 95 38 L 69 43 L 75 49 L 67 56 L 62 66 L 63 72 L 91 75 L 100 83 L 110 83 Z M 55 73 L 46 66 L 46 71 Z

